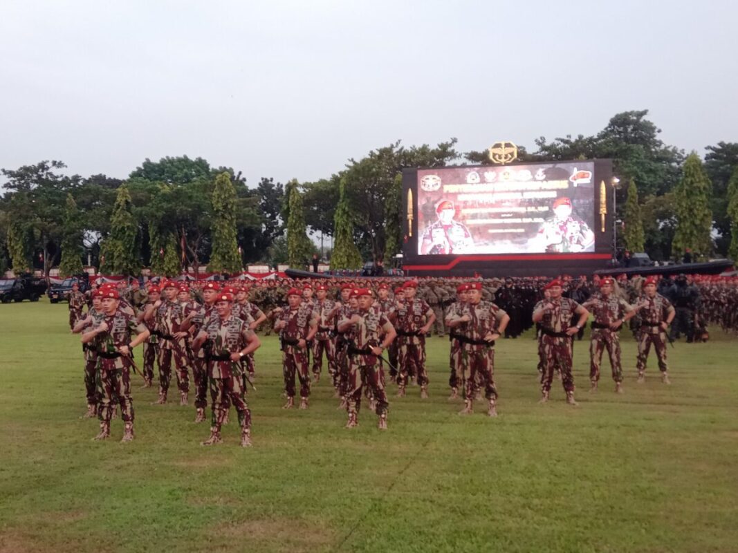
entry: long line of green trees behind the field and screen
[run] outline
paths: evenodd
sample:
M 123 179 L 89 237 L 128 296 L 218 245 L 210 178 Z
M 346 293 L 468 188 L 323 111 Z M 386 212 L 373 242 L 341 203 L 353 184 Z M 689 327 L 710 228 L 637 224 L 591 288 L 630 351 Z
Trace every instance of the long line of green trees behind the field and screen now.
M 666 145 L 648 111 L 613 116 L 593 136 L 534 140 L 520 161 L 613 159 L 620 178 L 618 248 L 655 260 L 738 257 L 738 143 L 697 153 Z M 461 153 L 456 139 L 438 145 L 394 142 L 349 159 L 314 182 L 261 178 L 202 158 L 146 159 L 125 179 L 66 175 L 62 161 L 2 169 L 0 270 L 83 263 L 103 273 L 156 274 L 183 268 L 240 271 L 246 263 L 305 265 L 317 252 L 308 234 L 331 237 L 331 266 L 357 268 L 401 250 L 401 171 L 405 167 L 489 164 L 486 149 Z

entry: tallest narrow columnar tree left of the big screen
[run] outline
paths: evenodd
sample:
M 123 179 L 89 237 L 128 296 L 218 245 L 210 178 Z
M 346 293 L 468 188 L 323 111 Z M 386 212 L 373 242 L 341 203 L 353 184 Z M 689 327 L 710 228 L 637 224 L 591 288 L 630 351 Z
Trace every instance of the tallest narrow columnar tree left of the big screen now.
M 235 229 L 235 188 L 228 173 L 215 177 L 213 187 L 213 253 L 210 271 L 238 273 L 242 269 Z

